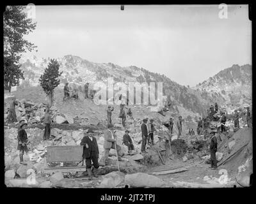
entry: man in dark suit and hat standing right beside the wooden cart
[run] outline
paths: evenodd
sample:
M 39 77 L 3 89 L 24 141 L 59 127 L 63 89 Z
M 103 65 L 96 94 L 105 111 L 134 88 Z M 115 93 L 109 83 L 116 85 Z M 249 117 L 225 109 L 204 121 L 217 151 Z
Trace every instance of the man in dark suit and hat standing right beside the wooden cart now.
M 92 129 L 88 129 L 87 135 L 83 137 L 80 145 L 84 146 L 83 149 L 83 159 L 86 163 L 86 170 L 89 175 L 89 180 L 92 179 L 92 175 L 97 177 L 97 169 L 99 168 L 99 148 L 96 138 L 93 136 Z M 93 163 L 93 171 L 92 171 Z

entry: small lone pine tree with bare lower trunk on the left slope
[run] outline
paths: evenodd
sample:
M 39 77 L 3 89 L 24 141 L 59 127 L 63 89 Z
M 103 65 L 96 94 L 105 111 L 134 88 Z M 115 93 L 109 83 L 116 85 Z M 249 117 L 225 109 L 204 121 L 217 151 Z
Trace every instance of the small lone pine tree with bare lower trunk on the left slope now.
M 44 89 L 44 92 L 49 100 L 49 108 L 52 106 L 54 89 L 60 84 L 62 72 L 59 72 L 60 64 L 56 59 L 51 59 L 48 64 L 48 68 L 45 68 L 44 75 L 40 76 L 40 85 Z

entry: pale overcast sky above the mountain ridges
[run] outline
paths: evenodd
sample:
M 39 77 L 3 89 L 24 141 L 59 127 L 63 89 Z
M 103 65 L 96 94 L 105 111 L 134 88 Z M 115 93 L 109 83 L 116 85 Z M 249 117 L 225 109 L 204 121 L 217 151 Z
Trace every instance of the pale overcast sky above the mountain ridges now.
M 72 54 L 138 66 L 191 87 L 233 64 L 252 64 L 248 6 L 36 6 L 26 39 L 38 57 Z

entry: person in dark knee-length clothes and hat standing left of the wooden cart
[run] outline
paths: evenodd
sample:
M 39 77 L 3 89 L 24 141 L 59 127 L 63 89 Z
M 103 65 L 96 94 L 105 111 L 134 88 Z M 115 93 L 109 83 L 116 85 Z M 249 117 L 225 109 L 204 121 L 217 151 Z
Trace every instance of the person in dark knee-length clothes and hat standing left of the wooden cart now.
M 28 152 L 28 136 L 27 136 L 27 133 L 25 131 L 25 126 L 27 124 L 23 121 L 20 122 L 20 129 L 19 129 L 19 132 L 18 132 L 18 136 L 17 136 L 17 140 L 18 140 L 18 147 L 17 147 L 17 150 L 20 151 L 20 164 L 24 164 L 26 165 L 26 163 L 23 161 L 23 155 L 24 155 L 24 152 Z

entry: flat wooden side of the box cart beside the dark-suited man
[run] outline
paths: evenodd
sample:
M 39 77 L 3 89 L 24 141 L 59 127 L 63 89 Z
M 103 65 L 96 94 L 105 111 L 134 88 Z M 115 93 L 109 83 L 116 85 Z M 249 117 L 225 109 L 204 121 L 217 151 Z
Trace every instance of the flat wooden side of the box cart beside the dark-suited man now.
M 71 162 L 83 160 L 83 146 L 48 146 L 47 162 Z

